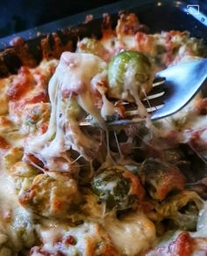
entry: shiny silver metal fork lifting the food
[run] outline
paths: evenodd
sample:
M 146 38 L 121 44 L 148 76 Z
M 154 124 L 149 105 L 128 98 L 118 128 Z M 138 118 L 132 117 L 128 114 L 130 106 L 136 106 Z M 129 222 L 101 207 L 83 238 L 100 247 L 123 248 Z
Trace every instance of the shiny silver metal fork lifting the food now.
M 155 121 L 181 110 L 202 88 L 206 77 L 207 59 L 181 63 L 158 72 L 153 90 L 142 100 L 151 114 L 150 119 Z M 129 125 L 143 120 L 139 117 L 137 106 L 127 102 L 123 104 L 128 108 L 126 118 L 108 122 L 109 126 Z M 89 121 L 81 123 L 81 126 L 88 125 L 91 125 Z

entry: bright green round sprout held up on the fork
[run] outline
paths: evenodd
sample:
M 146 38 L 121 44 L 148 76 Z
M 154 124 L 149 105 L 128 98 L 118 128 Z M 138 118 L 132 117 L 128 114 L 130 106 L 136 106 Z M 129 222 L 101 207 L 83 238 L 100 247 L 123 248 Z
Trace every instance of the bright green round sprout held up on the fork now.
M 151 85 L 146 84 L 152 77 L 152 65 L 146 55 L 138 51 L 123 51 L 112 58 L 108 68 L 108 82 L 110 97 L 123 99 L 123 93 L 130 88 L 136 89 L 140 94 L 142 89 L 146 92 Z M 145 88 L 142 88 L 142 85 Z M 131 93 L 132 94 L 132 93 Z M 132 95 L 133 96 L 133 95 Z

